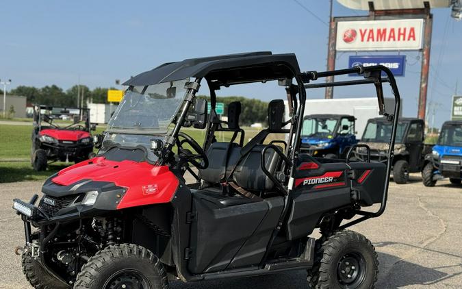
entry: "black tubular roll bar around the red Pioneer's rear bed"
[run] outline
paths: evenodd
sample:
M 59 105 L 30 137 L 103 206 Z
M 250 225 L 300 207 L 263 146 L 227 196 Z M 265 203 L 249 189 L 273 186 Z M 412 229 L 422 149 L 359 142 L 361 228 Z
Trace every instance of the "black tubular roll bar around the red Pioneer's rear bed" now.
M 365 79 L 307 85 L 309 81 L 316 80 L 320 77 L 347 75 L 347 74 L 354 74 L 354 73 L 356 73 L 357 75 L 363 75 Z M 382 73 L 385 73 L 387 77 L 386 78 L 381 77 Z M 367 67 L 355 66 L 353 68 L 340 69 L 337 71 L 323 71 L 323 72 L 309 71 L 306 73 L 302 73 L 301 78 L 303 79 L 303 83 L 305 83 L 305 88 L 347 86 L 347 85 L 356 85 L 356 84 L 374 84 L 375 85 L 378 105 L 380 106 L 379 113 L 387 117 L 387 119 L 389 119 L 389 121 L 392 121 L 393 123 L 392 137 L 389 142 L 389 150 L 388 150 L 388 156 L 387 156 L 387 159 L 388 159 L 387 160 L 387 171 L 386 171 L 386 176 L 385 176 L 385 188 L 383 192 L 383 199 L 381 201 L 381 207 L 376 212 L 356 210 L 355 213 L 361 215 L 362 217 L 354 221 L 350 221 L 349 223 L 346 223 L 345 225 L 342 225 L 339 228 L 344 229 L 346 227 L 350 227 L 351 225 L 355 225 L 361 221 L 364 221 L 368 218 L 375 218 L 375 217 L 381 216 L 381 214 L 385 212 L 385 208 L 387 206 L 389 177 L 392 171 L 392 162 L 393 162 L 393 157 L 394 157 L 394 146 L 395 146 L 395 138 L 396 138 L 396 128 L 398 126 L 398 115 L 400 112 L 400 105 L 401 105 L 400 92 L 398 90 L 398 86 L 396 86 L 396 79 L 392 71 L 390 71 L 389 68 L 383 65 L 367 66 Z M 395 107 L 394 107 L 393 114 L 387 114 L 387 112 L 385 111 L 385 105 L 384 105 L 384 99 L 383 99 L 383 88 L 382 88 L 383 82 L 388 82 L 389 85 L 392 87 L 392 91 L 395 97 Z

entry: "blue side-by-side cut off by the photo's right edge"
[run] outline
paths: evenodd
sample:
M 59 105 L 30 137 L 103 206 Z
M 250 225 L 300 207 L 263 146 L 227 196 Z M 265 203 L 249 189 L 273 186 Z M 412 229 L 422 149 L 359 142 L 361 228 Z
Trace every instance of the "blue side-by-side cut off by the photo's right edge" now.
M 438 179 L 448 177 L 452 184 L 462 179 L 462 121 L 446 121 L 437 145 L 425 157 L 422 171 L 424 186 L 435 186 Z

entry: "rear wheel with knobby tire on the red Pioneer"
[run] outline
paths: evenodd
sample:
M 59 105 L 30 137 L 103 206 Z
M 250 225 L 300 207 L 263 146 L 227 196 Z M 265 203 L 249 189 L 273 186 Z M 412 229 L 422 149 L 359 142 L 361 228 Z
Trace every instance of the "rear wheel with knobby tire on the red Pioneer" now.
M 377 281 L 374 246 L 355 231 L 337 231 L 315 253 L 308 282 L 313 289 L 370 289 Z

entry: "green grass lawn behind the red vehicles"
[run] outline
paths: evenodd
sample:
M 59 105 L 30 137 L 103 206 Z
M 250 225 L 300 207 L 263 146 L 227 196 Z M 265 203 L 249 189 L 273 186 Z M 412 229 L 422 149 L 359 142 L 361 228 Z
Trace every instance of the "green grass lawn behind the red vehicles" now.
M 104 129 L 105 127 L 98 126 L 97 131 L 92 131 L 92 134 L 101 134 Z M 181 131 L 194 138 L 199 145 L 203 144 L 205 139 L 205 129 L 183 128 Z M 244 127 L 244 131 L 245 144 L 250 138 L 253 138 L 259 132 L 259 129 Z M 31 133 L 32 125 L 0 125 L 0 183 L 44 180 L 50 175 L 53 175 L 53 173 L 60 171 L 62 168 L 73 164 L 55 162 L 49 165 L 47 171 L 34 171 L 29 162 Z M 232 136 L 233 133 L 231 132 L 216 132 L 216 138 L 219 142 L 229 142 Z M 238 136 L 238 140 L 235 140 L 235 142 L 238 142 L 239 138 L 240 136 Z M 283 134 L 272 134 L 268 136 L 268 140 L 266 140 L 266 142 L 283 139 Z

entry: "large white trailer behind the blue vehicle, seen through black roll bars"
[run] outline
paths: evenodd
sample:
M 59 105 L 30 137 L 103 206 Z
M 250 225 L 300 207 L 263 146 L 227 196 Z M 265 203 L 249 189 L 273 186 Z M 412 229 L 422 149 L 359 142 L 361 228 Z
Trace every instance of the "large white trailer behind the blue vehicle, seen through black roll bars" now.
M 385 98 L 385 111 L 394 112 L 395 101 Z M 402 102 L 401 102 L 402 107 Z M 355 116 L 355 133 L 357 138 L 363 136 L 368 119 L 380 116 L 376 97 L 357 97 L 348 99 L 307 99 L 305 102 L 305 116 L 309 114 L 350 114 Z M 289 107 L 285 101 L 285 117 L 289 115 Z M 400 112 L 401 116 L 401 112 Z

